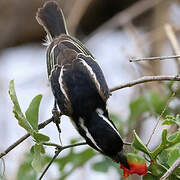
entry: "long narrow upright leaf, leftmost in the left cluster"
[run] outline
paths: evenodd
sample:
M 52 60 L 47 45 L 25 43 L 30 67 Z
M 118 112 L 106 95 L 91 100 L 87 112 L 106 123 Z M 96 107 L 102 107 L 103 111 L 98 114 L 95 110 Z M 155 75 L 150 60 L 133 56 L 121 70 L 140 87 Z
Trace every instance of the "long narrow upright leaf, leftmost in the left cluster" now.
M 21 111 L 21 108 L 19 106 L 19 102 L 16 96 L 15 88 L 14 88 L 14 81 L 11 80 L 9 84 L 9 95 L 11 97 L 11 100 L 14 104 L 13 107 L 13 113 L 15 115 L 15 118 L 18 120 L 18 124 L 23 127 L 27 132 L 32 134 L 33 130 L 31 126 L 29 125 L 28 121 L 26 120 L 24 114 Z

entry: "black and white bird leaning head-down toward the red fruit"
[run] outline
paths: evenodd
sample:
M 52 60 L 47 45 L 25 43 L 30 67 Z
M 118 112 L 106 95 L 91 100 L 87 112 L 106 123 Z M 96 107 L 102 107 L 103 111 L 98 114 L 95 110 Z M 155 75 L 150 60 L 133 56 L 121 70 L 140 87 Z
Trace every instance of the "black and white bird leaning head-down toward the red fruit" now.
M 110 96 L 103 72 L 84 45 L 70 36 L 55 1 L 38 9 L 37 21 L 47 32 L 47 71 L 55 101 L 92 148 L 129 168 L 123 141 L 106 108 Z

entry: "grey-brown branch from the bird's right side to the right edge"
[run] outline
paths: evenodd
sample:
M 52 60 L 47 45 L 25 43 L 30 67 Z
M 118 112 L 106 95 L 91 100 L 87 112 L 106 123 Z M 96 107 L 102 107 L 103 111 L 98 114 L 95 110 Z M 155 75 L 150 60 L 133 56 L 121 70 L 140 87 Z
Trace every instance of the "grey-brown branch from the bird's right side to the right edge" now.
M 120 86 L 111 88 L 110 91 L 113 92 L 113 91 L 117 91 L 119 89 L 123 89 L 126 87 L 131 87 L 131 86 L 135 86 L 137 84 L 142 84 L 145 82 L 153 82 L 153 81 L 180 81 L 180 76 L 178 76 L 178 75 L 177 76 L 144 76 L 142 78 L 139 78 L 139 79 L 124 83 Z

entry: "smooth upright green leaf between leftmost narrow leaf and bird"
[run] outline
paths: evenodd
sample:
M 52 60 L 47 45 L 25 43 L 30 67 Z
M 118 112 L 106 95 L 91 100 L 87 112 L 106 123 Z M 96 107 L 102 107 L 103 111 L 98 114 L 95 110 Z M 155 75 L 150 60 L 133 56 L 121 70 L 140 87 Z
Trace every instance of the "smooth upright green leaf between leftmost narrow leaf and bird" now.
M 36 132 L 38 132 L 38 114 L 41 99 L 41 94 L 34 97 L 25 113 L 27 121 Z

